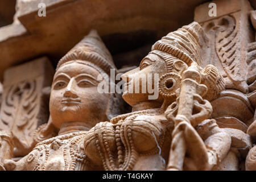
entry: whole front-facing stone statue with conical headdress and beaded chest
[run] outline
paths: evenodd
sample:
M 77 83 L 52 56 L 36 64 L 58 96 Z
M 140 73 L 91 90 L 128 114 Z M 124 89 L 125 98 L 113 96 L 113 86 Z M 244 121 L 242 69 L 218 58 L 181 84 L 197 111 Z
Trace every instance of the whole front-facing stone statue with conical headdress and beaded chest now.
M 5 160 L 5 169 L 100 169 L 86 157 L 84 139 L 96 123 L 108 121 L 121 109 L 114 94 L 97 92 L 101 81 L 98 76 L 110 75 L 110 68 L 115 69 L 112 56 L 97 32 L 91 31 L 57 65 L 49 101 L 50 118 L 34 135 L 39 143 L 18 162 Z

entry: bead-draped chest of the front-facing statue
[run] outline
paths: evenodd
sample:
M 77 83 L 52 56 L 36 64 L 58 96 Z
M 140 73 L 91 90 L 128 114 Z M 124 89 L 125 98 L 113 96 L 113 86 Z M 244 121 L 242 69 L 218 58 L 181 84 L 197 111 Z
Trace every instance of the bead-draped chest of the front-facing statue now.
M 86 168 L 83 139 L 86 131 L 64 134 L 44 140 L 36 145 L 23 162 L 27 170 L 76 170 Z

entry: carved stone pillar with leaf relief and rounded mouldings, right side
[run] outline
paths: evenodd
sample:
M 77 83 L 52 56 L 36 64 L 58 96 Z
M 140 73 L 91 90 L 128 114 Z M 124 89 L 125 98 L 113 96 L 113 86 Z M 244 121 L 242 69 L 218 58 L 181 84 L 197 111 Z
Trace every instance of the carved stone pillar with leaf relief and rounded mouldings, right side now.
M 204 3 L 195 9 L 195 20 L 209 37 L 209 49 L 201 66 L 213 64 L 224 77 L 225 90 L 211 101 L 212 118 L 232 137 L 230 152 L 219 167 L 245 169 L 245 158 L 252 146 L 246 133 L 253 122 L 255 109 L 252 89 L 255 36 L 249 17 L 252 7 L 246 0 L 216 1 L 217 16 L 210 17 L 204 11 L 208 5 Z

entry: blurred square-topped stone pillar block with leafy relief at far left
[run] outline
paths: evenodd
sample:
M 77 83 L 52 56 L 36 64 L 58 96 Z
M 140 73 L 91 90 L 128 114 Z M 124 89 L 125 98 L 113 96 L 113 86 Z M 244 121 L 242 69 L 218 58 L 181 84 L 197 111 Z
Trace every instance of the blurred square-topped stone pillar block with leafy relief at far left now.
M 35 145 L 32 135 L 48 121 L 53 68 L 46 57 L 7 69 L 3 82 L 0 129 L 11 131 L 14 156 L 26 155 Z

